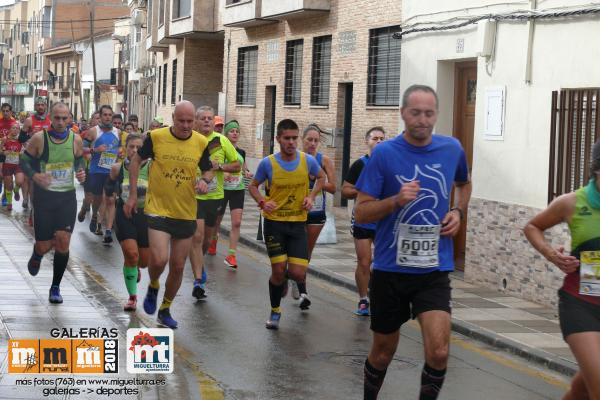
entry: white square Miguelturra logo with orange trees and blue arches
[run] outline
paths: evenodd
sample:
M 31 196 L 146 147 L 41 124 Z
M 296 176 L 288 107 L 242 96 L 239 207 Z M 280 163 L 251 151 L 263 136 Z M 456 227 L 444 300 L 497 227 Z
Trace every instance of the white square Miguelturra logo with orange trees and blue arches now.
M 171 329 L 127 330 L 127 372 L 130 374 L 170 374 L 174 355 Z

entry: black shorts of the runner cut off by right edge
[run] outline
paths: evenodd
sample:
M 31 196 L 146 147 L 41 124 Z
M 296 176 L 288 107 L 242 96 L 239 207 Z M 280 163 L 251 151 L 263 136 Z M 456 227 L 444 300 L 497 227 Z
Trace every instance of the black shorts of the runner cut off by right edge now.
M 560 289 L 558 318 L 563 338 L 573 333 L 600 332 L 600 305 L 582 300 Z

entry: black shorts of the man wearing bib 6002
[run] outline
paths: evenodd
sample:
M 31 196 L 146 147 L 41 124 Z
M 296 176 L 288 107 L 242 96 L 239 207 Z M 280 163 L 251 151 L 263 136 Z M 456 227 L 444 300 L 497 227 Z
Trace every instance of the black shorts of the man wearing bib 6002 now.
M 451 313 L 448 272 L 405 274 L 373 270 L 371 275 L 371 330 L 389 334 L 425 311 Z

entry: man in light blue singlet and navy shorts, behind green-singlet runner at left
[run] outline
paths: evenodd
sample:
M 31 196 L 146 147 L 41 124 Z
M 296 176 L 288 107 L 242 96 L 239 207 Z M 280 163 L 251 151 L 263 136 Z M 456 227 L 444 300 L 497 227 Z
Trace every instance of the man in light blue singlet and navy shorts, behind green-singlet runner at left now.
M 113 127 L 112 107 L 105 104 L 100 107 L 100 124 L 88 130 L 87 139 L 92 143 L 92 159 L 88 177 L 88 190 L 92 193 L 92 219 L 90 232 L 102 235 L 102 222 L 108 222 L 104 183 L 108 179 L 111 166 L 117 161 L 119 153 L 119 130 Z M 101 207 L 103 205 L 103 207 Z M 107 218 L 108 217 L 108 218 Z M 104 221 L 102 221 L 104 220 Z M 110 221 L 112 225 L 112 221 Z M 104 243 L 112 242 L 112 234 L 107 230 Z

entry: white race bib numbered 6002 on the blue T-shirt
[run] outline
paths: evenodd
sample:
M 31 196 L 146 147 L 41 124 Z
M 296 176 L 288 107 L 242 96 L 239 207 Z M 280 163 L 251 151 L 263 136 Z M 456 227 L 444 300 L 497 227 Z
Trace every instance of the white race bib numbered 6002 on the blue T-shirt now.
M 438 267 L 439 241 L 440 225 L 400 224 L 396 264 L 412 268 Z

